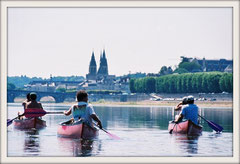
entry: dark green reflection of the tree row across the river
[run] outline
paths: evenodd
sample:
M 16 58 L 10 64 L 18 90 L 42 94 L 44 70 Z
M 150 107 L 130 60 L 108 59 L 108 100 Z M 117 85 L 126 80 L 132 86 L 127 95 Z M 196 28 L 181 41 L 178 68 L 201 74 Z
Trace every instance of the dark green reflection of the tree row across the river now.
M 95 107 L 96 113 L 102 120 L 103 127 L 124 128 L 158 128 L 167 130 L 168 122 L 174 119 L 177 112 L 172 107 Z M 200 114 L 207 120 L 213 121 L 224 128 L 224 132 L 233 131 L 232 109 L 201 108 Z M 211 132 L 207 122 L 200 119 L 203 131 Z

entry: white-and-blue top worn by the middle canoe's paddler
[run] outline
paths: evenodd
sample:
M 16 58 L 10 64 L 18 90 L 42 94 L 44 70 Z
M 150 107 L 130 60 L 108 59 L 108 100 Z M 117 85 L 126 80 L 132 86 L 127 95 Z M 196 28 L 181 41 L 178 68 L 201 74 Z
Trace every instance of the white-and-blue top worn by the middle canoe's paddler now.
M 78 105 L 79 107 L 76 108 L 74 106 Z M 77 104 L 72 106 L 72 115 L 74 120 L 78 120 L 79 118 L 84 119 L 88 123 L 92 123 L 91 115 L 95 114 L 93 106 L 86 102 L 78 102 Z

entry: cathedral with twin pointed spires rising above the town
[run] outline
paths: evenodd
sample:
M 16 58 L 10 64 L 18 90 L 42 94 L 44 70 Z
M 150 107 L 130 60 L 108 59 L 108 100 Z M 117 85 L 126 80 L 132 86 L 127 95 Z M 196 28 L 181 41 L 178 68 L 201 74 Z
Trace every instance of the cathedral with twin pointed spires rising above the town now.
M 89 73 L 86 75 L 87 81 L 94 80 L 94 81 L 101 81 L 104 79 L 108 79 L 108 64 L 105 50 L 103 50 L 100 56 L 100 66 L 97 70 L 97 64 L 94 56 L 94 52 L 92 52 L 91 61 L 89 64 Z

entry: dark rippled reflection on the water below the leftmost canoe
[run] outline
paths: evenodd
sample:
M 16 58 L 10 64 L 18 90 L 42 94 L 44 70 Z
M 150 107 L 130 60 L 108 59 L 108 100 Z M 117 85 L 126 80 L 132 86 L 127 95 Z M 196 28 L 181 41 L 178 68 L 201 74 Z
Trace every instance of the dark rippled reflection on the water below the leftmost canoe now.
M 24 152 L 37 156 L 40 152 L 39 131 L 29 129 L 25 131 Z

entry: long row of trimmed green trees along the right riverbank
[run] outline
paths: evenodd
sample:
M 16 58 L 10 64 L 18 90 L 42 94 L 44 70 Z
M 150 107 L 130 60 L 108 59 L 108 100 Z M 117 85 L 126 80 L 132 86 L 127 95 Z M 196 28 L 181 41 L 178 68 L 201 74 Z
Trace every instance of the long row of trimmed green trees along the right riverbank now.
M 233 92 L 233 74 L 200 72 L 131 79 L 132 93 L 221 93 Z

